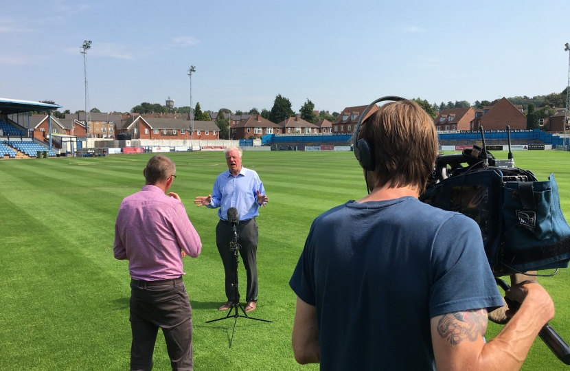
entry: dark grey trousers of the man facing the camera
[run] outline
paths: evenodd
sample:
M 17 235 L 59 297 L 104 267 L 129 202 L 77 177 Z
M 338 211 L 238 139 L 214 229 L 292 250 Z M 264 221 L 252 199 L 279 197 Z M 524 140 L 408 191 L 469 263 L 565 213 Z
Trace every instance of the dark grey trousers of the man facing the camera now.
M 255 218 L 249 221 L 240 221 L 237 225 L 238 229 L 238 244 L 241 245 L 240 256 L 243 260 L 243 265 L 247 273 L 247 289 L 246 300 L 248 302 L 258 301 L 258 224 L 255 223 Z M 218 245 L 218 252 L 222 258 L 225 272 L 225 291 L 227 300 L 231 302 L 239 302 L 240 294 L 236 300 L 233 291 L 233 282 L 236 271 L 236 258 L 233 251 L 230 249 L 231 239 L 233 238 L 233 228 L 227 221 L 222 221 L 216 226 L 216 245 Z

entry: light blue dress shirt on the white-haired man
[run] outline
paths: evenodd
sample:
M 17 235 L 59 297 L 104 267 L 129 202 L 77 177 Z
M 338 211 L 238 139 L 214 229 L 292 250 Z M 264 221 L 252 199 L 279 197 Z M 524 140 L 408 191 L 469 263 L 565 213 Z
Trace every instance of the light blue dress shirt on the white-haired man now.
M 220 207 L 218 216 L 223 221 L 227 221 L 227 210 L 236 207 L 240 221 L 247 221 L 259 215 L 258 190 L 260 194 L 265 194 L 257 172 L 242 166 L 238 176 L 234 177 L 227 170 L 216 178 L 212 189 L 212 201 L 207 207 L 210 209 Z

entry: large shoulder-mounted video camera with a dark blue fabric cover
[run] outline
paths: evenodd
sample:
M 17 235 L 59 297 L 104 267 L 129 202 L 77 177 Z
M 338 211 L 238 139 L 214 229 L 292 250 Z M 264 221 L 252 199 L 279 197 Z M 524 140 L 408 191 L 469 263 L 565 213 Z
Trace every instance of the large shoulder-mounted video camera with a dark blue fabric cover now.
M 440 153 L 420 201 L 477 222 L 495 276 L 569 265 L 570 227 L 554 175 L 538 181 L 514 166 L 511 152 L 495 159 L 484 138 L 483 147 Z

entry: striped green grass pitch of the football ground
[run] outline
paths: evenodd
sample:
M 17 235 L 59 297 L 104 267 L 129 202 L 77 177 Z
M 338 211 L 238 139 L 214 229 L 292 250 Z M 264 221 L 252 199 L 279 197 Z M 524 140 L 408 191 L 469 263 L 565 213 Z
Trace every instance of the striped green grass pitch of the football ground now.
M 506 153 L 494 153 L 505 158 Z M 288 280 L 310 223 L 321 212 L 363 196 L 362 171 L 352 153 L 244 153 L 256 170 L 269 204 L 260 210 L 258 269 L 260 294 L 254 317 L 218 318 L 225 302 L 223 268 L 216 249 L 216 210 L 196 207 L 195 196 L 212 191 L 227 169 L 222 153 L 171 153 L 181 196 L 200 234 L 203 251 L 185 258 L 184 278 L 194 320 L 196 370 L 317 370 L 293 359 L 290 333 L 295 294 Z M 114 223 L 120 202 L 144 185 L 150 155 L 92 159 L 60 158 L 0 161 L 0 370 L 128 370 L 128 263 L 113 258 Z M 570 218 L 569 153 L 520 151 L 516 166 L 539 180 L 554 172 L 562 209 Z M 241 263 L 240 263 L 241 264 Z M 554 298 L 550 322 L 570 341 L 568 273 L 540 282 Z M 240 290 L 245 289 L 240 267 Z M 342 300 L 342 298 L 340 298 Z M 501 326 L 491 324 L 487 337 Z M 540 339 L 523 370 L 560 370 L 563 364 Z M 154 370 L 170 370 L 159 332 Z

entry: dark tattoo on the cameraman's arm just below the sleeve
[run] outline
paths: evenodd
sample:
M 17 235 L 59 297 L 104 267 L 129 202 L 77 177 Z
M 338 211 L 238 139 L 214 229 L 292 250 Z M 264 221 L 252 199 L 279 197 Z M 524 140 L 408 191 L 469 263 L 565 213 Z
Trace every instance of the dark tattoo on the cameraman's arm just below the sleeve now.
M 485 335 L 487 322 L 486 309 L 447 313 L 437 324 L 437 333 L 453 345 L 461 343 L 464 339 L 473 342 L 479 335 Z

